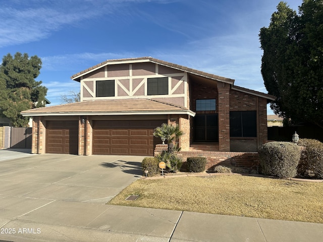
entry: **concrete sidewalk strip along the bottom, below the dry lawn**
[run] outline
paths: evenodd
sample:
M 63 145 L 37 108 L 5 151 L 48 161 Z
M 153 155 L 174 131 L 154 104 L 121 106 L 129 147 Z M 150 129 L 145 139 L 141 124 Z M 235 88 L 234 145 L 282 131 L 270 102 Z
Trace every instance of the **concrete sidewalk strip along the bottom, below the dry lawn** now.
M 15 199 L 9 200 L 15 206 Z M 34 204 L 28 199 L 25 202 L 28 207 Z M 318 242 L 322 241 L 323 235 L 323 224 L 315 223 L 55 200 L 35 203 L 36 208 L 30 207 L 28 212 L 17 211 L 12 219 L 0 220 L 5 224 L 1 231 L 7 231 L 7 234 L 0 234 L 1 239 L 84 242 Z M 6 214 L 14 214 L 13 210 L 14 208 Z M 12 231 L 10 229 L 15 229 L 15 233 L 8 234 Z

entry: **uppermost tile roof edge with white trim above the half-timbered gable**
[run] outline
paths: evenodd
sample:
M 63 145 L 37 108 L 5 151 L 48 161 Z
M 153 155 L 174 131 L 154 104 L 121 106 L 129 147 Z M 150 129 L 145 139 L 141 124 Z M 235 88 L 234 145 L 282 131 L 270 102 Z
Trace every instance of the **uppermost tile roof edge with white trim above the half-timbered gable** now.
M 86 70 L 84 70 L 82 72 L 79 72 L 79 73 L 73 75 L 71 77 L 71 79 L 79 82 L 81 76 L 83 76 L 83 75 L 85 75 L 85 74 L 87 74 L 87 73 L 89 73 L 91 71 L 94 71 L 94 70 L 96 70 L 98 68 L 101 68 L 103 66 L 114 65 L 114 64 L 122 64 L 122 63 L 135 63 L 135 62 L 152 62 L 152 63 L 163 65 L 163 66 L 166 66 L 166 67 L 175 68 L 177 70 L 181 70 L 183 72 L 187 72 L 187 73 L 190 73 L 190 74 L 195 74 L 195 75 L 198 75 L 198 76 L 201 76 L 201 77 L 206 77 L 206 78 L 210 78 L 210 79 L 213 79 L 213 80 L 217 80 L 217 81 L 221 81 L 221 82 L 225 82 L 225 83 L 230 83 L 230 84 L 234 83 L 234 80 L 230 79 L 230 78 L 220 77 L 220 76 L 217 76 L 217 75 L 213 75 L 213 74 L 209 74 L 209 73 L 206 73 L 206 72 L 198 71 L 198 70 L 195 70 L 195 69 L 192 69 L 192 68 L 176 65 L 176 64 L 173 64 L 173 63 L 170 63 L 170 62 L 161 61 L 160 59 L 156 59 L 156 58 L 153 58 L 153 57 L 108 59 L 105 62 L 97 64 L 97 65 L 95 65 L 93 67 L 90 67 L 90 68 L 88 68 L 88 69 L 86 69 Z

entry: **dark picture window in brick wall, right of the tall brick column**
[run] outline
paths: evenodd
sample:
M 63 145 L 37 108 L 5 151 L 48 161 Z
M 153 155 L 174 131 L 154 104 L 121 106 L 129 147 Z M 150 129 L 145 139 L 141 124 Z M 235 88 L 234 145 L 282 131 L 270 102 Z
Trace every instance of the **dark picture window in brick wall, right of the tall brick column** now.
M 231 111 L 230 137 L 257 137 L 256 111 Z

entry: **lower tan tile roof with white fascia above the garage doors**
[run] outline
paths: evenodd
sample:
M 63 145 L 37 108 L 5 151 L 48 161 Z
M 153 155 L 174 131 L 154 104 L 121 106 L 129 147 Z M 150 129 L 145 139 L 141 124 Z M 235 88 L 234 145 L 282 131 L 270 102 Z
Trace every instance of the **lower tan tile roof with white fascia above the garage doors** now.
M 153 99 L 105 99 L 75 102 L 22 111 L 23 116 L 46 115 L 125 115 L 125 114 L 189 114 L 188 108 Z

